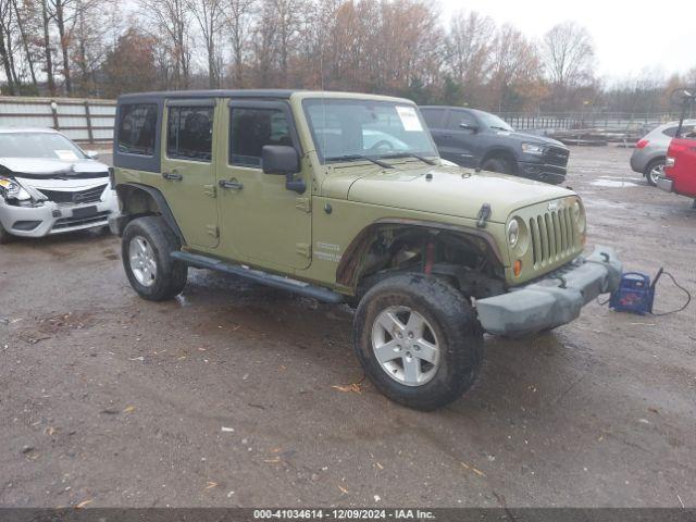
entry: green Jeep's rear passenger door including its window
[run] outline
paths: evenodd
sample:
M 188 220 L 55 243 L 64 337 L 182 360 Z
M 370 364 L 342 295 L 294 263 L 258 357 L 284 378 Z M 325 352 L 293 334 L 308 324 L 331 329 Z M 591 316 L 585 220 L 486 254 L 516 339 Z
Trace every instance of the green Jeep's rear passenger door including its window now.
M 213 158 L 214 100 L 170 100 L 164 111 L 162 192 L 186 243 L 217 246 Z

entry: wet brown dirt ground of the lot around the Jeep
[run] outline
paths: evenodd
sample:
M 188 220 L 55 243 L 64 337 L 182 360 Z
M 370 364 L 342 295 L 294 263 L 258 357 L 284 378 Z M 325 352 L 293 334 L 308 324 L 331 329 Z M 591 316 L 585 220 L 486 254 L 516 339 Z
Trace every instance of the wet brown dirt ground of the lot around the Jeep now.
M 572 150 L 588 244 L 694 290 L 696 210 L 629 156 Z M 475 387 L 422 413 L 362 382 L 349 309 L 204 271 L 146 302 L 120 258 L 0 249 L 2 506 L 696 506 L 695 306 L 486 338 Z M 682 301 L 663 278 L 656 308 Z

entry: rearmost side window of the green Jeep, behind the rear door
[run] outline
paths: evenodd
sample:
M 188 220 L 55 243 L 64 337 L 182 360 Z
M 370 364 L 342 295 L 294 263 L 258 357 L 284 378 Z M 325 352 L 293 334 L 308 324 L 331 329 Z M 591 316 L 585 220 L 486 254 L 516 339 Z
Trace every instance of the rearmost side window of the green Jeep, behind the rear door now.
M 119 152 L 153 156 L 157 104 L 122 105 L 119 122 Z

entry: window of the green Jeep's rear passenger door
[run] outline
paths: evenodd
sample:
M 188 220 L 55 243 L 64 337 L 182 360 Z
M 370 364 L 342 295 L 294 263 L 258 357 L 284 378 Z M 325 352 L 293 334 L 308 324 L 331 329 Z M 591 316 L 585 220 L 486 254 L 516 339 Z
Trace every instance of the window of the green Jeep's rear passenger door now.
M 212 107 L 170 107 L 166 129 L 169 158 L 210 161 L 212 145 Z

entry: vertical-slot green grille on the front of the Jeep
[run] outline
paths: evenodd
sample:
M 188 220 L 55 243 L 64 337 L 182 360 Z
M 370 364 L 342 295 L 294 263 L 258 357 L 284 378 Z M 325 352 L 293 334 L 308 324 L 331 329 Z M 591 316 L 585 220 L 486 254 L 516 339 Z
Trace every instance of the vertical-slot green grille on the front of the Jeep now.
M 534 266 L 550 264 L 569 257 L 575 247 L 575 227 L 571 210 L 562 207 L 530 220 Z

